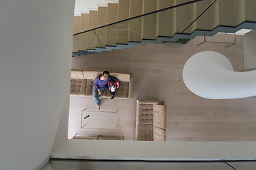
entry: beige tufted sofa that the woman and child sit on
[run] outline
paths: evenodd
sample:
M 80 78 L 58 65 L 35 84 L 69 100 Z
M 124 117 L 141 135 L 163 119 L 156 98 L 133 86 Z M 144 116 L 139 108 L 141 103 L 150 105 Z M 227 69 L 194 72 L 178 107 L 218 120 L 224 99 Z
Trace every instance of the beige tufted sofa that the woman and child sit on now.
M 103 71 L 71 70 L 70 95 L 92 96 L 95 78 Z M 119 79 L 119 89 L 114 98 L 132 98 L 132 74 L 110 72 L 110 76 Z M 109 90 L 105 90 L 102 97 L 111 97 Z

